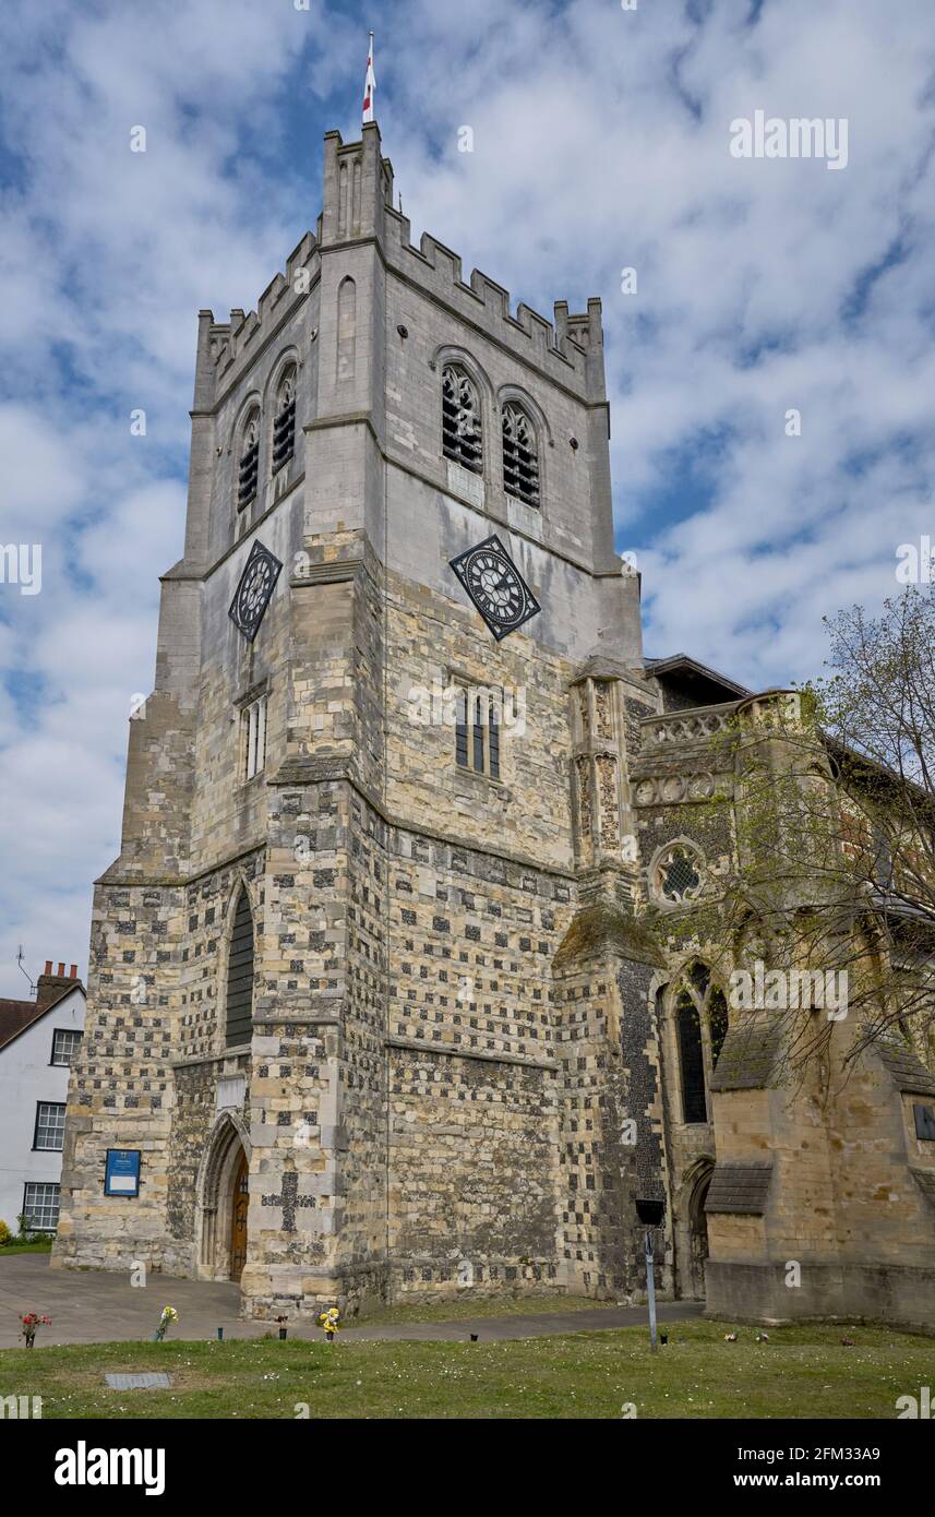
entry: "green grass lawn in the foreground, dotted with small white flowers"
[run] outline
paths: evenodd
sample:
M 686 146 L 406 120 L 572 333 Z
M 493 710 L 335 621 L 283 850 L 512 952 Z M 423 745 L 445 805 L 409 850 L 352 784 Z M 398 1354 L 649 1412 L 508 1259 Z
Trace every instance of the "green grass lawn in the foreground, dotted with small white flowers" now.
M 856 1327 L 665 1329 L 653 1358 L 646 1329 L 512 1343 L 97 1344 L 0 1352 L 0 1396 L 41 1396 L 53 1417 L 896 1417 L 896 1399 L 930 1385 L 930 1338 Z M 41 1340 L 39 1340 L 41 1341 Z M 165 1370 L 171 1391 L 111 1391 L 108 1370 Z

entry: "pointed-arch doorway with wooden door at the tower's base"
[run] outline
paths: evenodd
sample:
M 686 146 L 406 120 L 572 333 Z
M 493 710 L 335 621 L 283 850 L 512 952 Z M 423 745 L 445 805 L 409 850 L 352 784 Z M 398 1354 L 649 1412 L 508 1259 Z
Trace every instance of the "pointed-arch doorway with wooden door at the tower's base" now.
M 197 1274 L 239 1280 L 247 1259 L 250 1142 L 244 1124 L 221 1112 L 197 1179 Z

